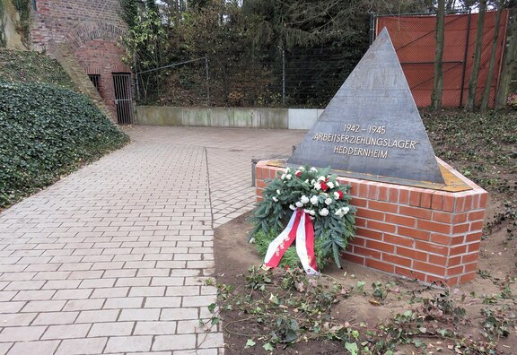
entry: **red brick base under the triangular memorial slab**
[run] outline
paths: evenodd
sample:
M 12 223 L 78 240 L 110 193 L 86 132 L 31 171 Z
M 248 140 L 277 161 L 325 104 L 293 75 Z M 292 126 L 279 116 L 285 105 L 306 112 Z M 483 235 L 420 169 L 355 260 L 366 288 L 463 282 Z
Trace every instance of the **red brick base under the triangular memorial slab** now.
M 338 177 L 352 186 L 355 238 L 344 258 L 419 281 L 456 285 L 474 279 L 487 193 L 443 163 L 472 190 L 460 193 Z M 285 169 L 256 167 L 257 198 L 267 178 Z

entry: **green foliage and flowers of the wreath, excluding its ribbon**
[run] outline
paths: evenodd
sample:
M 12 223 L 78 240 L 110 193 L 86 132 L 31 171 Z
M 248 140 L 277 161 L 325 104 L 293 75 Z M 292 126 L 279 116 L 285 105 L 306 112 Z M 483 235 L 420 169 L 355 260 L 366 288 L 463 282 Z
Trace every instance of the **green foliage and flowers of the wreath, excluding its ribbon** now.
M 250 241 L 257 243 L 261 255 L 266 255 L 267 245 L 285 228 L 293 212 L 300 208 L 311 216 L 319 269 L 330 257 L 337 267 L 341 267 L 340 255 L 354 237 L 356 209 L 349 204 L 350 186 L 339 185 L 337 175 L 330 175 L 329 171 L 329 168 L 309 166 L 287 168 L 285 174 L 267 180 L 267 187 L 262 192 L 263 200 L 251 216 L 254 228 Z M 290 247 L 281 265 L 294 265 L 294 259 L 297 260 L 296 251 Z

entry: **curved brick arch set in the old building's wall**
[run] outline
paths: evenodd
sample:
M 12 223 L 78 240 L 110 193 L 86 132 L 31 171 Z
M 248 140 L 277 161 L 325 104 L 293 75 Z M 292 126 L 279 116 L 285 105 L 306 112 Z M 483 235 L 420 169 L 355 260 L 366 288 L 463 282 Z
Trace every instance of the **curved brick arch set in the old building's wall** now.
M 109 22 L 83 22 L 67 34 L 67 43 L 74 49 L 95 40 L 104 39 L 117 43 L 121 36 L 127 33 L 126 29 Z

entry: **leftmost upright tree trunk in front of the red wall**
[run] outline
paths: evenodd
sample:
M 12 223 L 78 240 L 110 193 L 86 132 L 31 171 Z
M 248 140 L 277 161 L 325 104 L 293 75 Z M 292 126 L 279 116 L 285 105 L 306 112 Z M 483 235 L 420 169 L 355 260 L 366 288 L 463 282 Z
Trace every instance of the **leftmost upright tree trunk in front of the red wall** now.
M 436 13 L 436 49 L 434 54 L 434 86 L 431 106 L 434 111 L 442 108 L 443 97 L 443 42 L 445 38 L 445 0 L 438 0 Z

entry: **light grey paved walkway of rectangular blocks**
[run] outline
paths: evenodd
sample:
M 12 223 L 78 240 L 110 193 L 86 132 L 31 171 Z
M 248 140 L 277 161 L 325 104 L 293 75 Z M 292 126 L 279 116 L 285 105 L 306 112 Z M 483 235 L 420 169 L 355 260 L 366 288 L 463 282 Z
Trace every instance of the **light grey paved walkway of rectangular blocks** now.
M 220 354 L 214 229 L 253 207 L 251 158 L 302 132 L 136 126 L 133 143 L 0 214 L 0 354 Z

